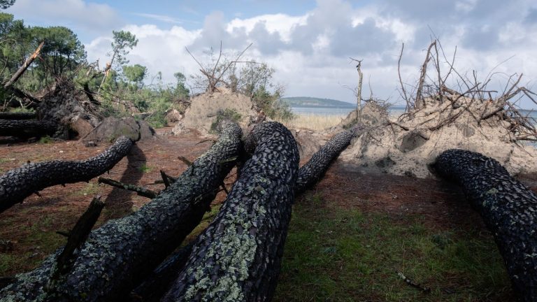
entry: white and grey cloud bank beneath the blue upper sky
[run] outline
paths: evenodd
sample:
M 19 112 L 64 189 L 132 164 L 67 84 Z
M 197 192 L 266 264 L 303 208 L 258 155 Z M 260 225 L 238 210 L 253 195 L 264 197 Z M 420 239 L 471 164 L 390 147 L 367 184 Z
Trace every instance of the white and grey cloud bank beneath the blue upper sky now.
M 422 3 L 413 0 L 408 6 Z M 457 14 L 473 14 L 478 4 L 473 0 L 461 0 L 458 4 L 443 1 L 439 8 L 445 8 L 442 18 L 448 20 Z M 288 96 L 353 101 L 352 92 L 342 87 L 354 87 L 357 82 L 356 70 L 348 59 L 352 56 L 364 60 L 364 96 L 369 94 L 371 80 L 376 96 L 391 97 L 390 101 L 395 101 L 399 97 L 397 60 L 401 42 L 405 43 L 401 75 L 403 81 L 412 84 L 419 75 L 433 34 L 431 30 L 440 36 L 446 52 L 446 58 L 440 58 L 444 67 L 447 67 L 445 61 L 452 59 L 454 47 L 458 46 L 455 66 L 462 74 L 466 71 L 471 74 L 475 69 L 478 75 L 485 77 L 496 65 L 515 55 L 496 67 L 499 78 L 491 83 L 491 89 L 500 89 L 502 80 L 502 85 L 505 84 L 502 74 L 523 72 L 527 80 L 537 78 L 537 62 L 532 53 L 537 48 L 537 25 L 523 24 L 522 19 L 501 26 L 489 22 L 492 20 L 486 15 L 476 15 L 475 23 L 471 19 L 431 22 L 430 16 L 387 13 L 378 4 L 352 8 L 342 0 L 322 0 L 318 6 L 299 16 L 274 14 L 245 19 L 235 16 L 229 22 L 222 13 L 212 13 L 206 16 L 203 27 L 195 30 L 180 26 L 162 29 L 151 24 L 129 25 L 123 29 L 139 39 L 138 46 L 129 55 L 131 64 L 148 66 L 153 75 L 162 71 L 164 80 L 169 82 L 177 71 L 187 75 L 199 73 L 199 66 L 187 54 L 185 46 L 198 59 L 203 59 L 201 51 L 217 47 L 220 41 L 230 53 L 241 51 L 247 43 L 253 42 L 245 58 L 273 66 L 275 81 L 287 86 Z M 105 54 L 110 50 L 110 41 L 110 36 L 102 36 L 88 43 L 88 57 L 100 57 L 103 62 L 107 59 Z

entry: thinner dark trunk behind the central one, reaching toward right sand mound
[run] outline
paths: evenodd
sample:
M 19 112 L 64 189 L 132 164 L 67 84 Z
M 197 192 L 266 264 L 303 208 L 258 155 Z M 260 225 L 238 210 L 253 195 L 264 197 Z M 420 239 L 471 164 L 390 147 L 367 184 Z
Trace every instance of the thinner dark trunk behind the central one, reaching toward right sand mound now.
M 355 127 L 340 132 L 327 141 L 319 151 L 315 152 L 311 159 L 299 169 L 299 176 L 296 178 L 294 192 L 301 194 L 308 187 L 315 184 L 322 178 L 322 175 L 328 170 L 330 164 L 336 160 L 341 152 L 345 150 L 355 138 L 361 135 L 364 130 L 363 124 L 357 124 Z

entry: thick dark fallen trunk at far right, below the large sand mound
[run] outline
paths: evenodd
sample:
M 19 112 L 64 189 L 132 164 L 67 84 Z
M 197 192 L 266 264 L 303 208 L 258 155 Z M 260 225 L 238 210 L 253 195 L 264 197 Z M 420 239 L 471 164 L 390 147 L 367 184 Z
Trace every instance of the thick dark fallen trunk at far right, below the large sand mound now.
M 433 164 L 461 185 L 478 210 L 507 266 L 519 301 L 537 301 L 537 196 L 501 164 L 482 154 L 447 150 Z

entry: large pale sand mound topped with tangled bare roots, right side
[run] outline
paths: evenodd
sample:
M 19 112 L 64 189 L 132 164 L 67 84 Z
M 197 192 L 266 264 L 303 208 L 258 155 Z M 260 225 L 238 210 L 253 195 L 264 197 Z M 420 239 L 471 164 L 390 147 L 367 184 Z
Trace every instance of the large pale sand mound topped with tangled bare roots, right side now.
M 428 178 L 433 177 L 428 164 L 438 154 L 459 148 L 497 159 L 511 174 L 537 171 L 537 150 L 514 139 L 510 117 L 502 112 L 487 117 L 490 112 L 482 102 L 459 99 L 464 106 L 430 99 L 424 109 L 380 120 L 340 159 L 360 164 L 365 171 Z

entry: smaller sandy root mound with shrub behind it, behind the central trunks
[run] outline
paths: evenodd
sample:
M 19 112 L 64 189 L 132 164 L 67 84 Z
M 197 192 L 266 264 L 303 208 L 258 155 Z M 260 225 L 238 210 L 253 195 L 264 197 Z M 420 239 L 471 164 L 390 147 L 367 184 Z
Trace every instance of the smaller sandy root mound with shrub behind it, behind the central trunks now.
M 189 129 L 196 129 L 202 134 L 209 134 L 211 126 L 217 120 L 217 115 L 227 110 L 233 110 L 238 124 L 244 129 L 248 128 L 252 120 L 257 117 L 257 112 L 253 110 L 253 103 L 248 96 L 231 92 L 231 89 L 218 87 L 217 92 L 204 93 L 194 96 L 191 99 L 189 108 L 185 115 L 173 127 L 173 134 L 180 134 Z

